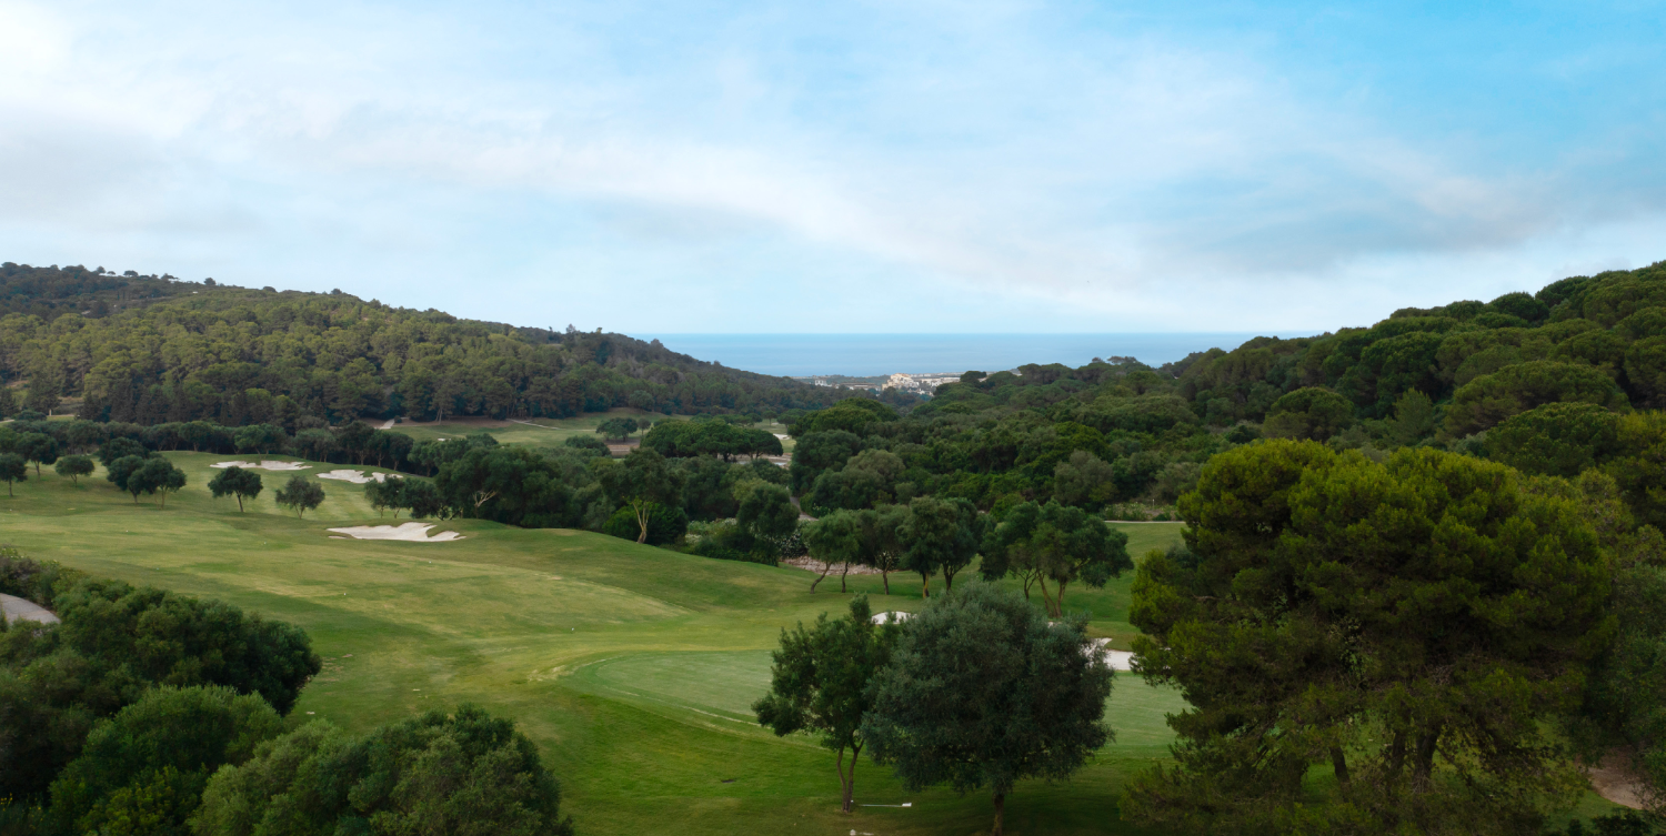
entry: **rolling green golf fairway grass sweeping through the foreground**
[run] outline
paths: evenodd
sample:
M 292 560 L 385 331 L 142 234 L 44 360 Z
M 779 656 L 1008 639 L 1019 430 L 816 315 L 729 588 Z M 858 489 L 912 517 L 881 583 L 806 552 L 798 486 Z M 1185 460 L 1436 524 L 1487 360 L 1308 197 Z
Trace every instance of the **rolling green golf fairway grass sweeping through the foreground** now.
M 333 540 L 328 528 L 378 525 L 363 486 L 325 481 L 325 505 L 297 520 L 272 500 L 292 473 L 258 471 L 265 491 L 238 513 L 205 488 L 210 465 L 235 456 L 168 458 L 190 481 L 165 510 L 155 498 L 135 505 L 102 470 L 78 485 L 50 468 L 37 480 L 32 470 L 13 498 L 0 496 L 0 541 L 305 626 L 327 661 L 293 723 L 367 729 L 478 703 L 515 718 L 540 744 L 583 836 L 988 831 L 986 796 L 905 793 L 866 759 L 858 803 L 913 806 L 840 814 L 833 754 L 753 721 L 750 704 L 768 686 L 781 628 L 845 611 L 850 595 L 838 593 L 836 576 L 810 595 L 813 576 L 800 570 L 480 521 L 438 523 L 433 531 L 465 536 L 448 543 Z M 302 473 L 338 468 L 348 466 L 313 463 Z M 1180 526 L 1123 530 L 1138 560 L 1176 541 Z M 1073 588 L 1066 605 L 1090 610 L 1093 633 L 1123 646 L 1133 634 L 1128 585 L 1125 575 L 1106 590 Z M 891 596 L 878 576 L 851 576 L 850 588 L 870 593 L 875 611 L 921 606 L 918 576 L 893 575 Z M 1120 788 L 1168 759 L 1165 713 L 1183 704 L 1173 691 L 1118 676 L 1106 711 L 1116 743 L 1070 783 L 1020 784 L 1008 828 L 1143 833 L 1120 823 Z

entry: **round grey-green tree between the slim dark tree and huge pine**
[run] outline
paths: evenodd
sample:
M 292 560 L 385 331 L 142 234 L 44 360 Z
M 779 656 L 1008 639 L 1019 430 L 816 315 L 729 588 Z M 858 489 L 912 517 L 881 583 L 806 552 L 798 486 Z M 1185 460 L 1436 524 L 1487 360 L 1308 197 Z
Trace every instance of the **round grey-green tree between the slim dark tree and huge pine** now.
M 1111 669 L 1085 626 L 1048 625 L 1018 591 L 986 583 L 933 598 L 873 679 L 860 729 L 873 759 L 910 789 L 990 788 L 1000 836 L 1020 778 L 1068 778 L 1111 739 L 1100 723 Z

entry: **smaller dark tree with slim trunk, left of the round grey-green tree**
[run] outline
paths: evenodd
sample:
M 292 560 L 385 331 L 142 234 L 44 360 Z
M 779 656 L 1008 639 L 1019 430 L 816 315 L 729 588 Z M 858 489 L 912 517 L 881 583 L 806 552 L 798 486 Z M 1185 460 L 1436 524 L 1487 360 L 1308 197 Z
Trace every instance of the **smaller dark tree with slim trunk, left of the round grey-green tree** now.
M 805 629 L 803 621 L 781 631 L 781 649 L 775 651 L 770 693 L 753 703 L 758 723 L 786 736 L 795 731 L 821 734 L 821 746 L 838 753 L 841 808 L 850 813 L 856 793 L 856 759 L 861 756 L 861 719 L 868 713 L 868 683 L 891 658 L 896 629 L 873 623 L 868 596 L 850 601 L 850 618 Z M 845 768 L 850 749 L 850 769 Z

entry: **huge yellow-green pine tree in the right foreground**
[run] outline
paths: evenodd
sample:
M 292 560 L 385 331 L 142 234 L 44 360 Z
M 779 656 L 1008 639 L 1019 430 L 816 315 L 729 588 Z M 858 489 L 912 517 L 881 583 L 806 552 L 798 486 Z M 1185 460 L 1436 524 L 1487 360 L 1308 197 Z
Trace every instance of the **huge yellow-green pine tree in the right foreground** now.
M 1123 809 L 1195 833 L 1538 833 L 1583 791 L 1549 729 L 1611 634 L 1609 558 L 1556 493 L 1429 448 L 1213 458 L 1180 501 L 1186 548 L 1135 578 L 1138 666 L 1193 708 L 1170 719 L 1176 768 Z

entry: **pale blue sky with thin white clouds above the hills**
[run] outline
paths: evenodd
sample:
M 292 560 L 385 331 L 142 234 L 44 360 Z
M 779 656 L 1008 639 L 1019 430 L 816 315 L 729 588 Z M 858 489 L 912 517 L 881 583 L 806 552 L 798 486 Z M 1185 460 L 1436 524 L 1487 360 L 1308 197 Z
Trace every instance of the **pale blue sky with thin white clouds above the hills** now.
M 1666 3 L 0 0 L 0 260 L 1298 335 L 1666 260 Z

